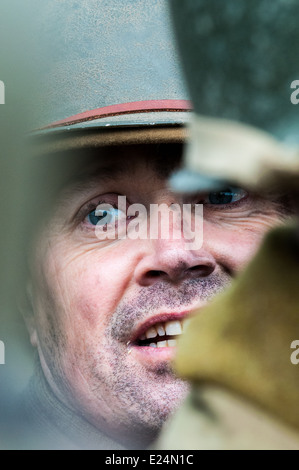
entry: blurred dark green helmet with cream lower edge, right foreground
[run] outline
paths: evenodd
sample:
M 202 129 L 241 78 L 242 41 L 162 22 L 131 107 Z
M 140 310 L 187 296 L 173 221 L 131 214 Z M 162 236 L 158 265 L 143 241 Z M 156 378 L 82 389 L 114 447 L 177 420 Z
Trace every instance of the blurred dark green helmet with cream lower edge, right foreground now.
M 195 108 L 186 168 L 254 187 L 277 172 L 299 174 L 298 2 L 170 7 Z M 188 189 L 183 176 L 176 184 Z

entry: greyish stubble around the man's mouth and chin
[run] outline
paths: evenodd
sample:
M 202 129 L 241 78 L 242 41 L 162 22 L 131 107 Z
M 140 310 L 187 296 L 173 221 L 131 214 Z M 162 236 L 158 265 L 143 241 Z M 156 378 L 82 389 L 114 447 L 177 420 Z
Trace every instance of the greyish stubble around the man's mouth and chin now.
M 117 403 L 122 431 L 128 439 L 150 442 L 157 437 L 165 421 L 178 408 L 189 390 L 189 384 L 176 377 L 172 365 L 162 362 L 157 367 L 146 367 L 130 360 L 126 341 L 136 322 L 163 309 L 180 311 L 183 307 L 209 301 L 224 290 L 231 278 L 227 274 L 211 275 L 206 279 L 187 280 L 175 288 L 157 283 L 142 289 L 130 301 L 119 304 L 106 329 L 105 347 L 93 364 L 92 376 L 98 384 L 98 393 L 105 392 L 111 402 Z M 101 364 L 109 357 L 110 374 L 102 374 Z M 115 410 L 117 414 L 117 410 Z

